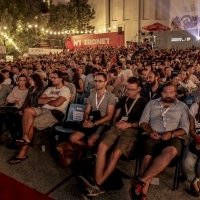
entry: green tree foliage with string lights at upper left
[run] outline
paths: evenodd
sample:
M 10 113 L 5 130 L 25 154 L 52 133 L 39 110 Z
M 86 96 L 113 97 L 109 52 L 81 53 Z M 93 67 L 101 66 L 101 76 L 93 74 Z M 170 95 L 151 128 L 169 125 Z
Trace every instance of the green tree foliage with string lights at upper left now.
M 16 53 L 8 38 L 23 53 L 28 47 L 52 39 L 53 35 L 44 30 L 81 32 L 94 29 L 90 20 L 94 19 L 95 11 L 88 0 L 70 0 L 66 4 L 51 5 L 49 10 L 43 0 L 0 0 L 0 12 L 0 45 L 6 44 L 8 54 Z M 64 39 L 64 35 L 56 37 Z

